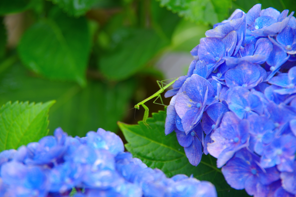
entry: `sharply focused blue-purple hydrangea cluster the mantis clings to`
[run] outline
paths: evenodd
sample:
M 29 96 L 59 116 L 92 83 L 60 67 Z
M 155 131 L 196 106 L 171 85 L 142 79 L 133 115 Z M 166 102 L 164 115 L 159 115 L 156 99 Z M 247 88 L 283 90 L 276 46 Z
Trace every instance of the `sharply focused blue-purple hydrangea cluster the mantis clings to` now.
M 296 19 L 257 4 L 214 25 L 165 97 L 165 134 L 190 163 L 217 158 L 226 181 L 258 197 L 296 194 Z

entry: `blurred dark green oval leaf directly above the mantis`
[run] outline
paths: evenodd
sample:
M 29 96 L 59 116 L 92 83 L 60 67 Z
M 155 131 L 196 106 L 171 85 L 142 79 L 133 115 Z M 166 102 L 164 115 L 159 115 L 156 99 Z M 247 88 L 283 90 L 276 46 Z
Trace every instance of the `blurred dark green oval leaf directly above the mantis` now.
M 168 45 L 155 31 L 133 29 L 110 54 L 99 59 L 99 69 L 110 80 L 124 80 L 135 74 Z

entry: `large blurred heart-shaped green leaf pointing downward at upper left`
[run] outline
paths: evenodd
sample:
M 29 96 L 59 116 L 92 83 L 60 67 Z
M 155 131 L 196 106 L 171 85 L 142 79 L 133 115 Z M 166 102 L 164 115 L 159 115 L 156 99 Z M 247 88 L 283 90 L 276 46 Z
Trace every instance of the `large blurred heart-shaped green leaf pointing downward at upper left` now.
M 35 73 L 84 86 L 91 47 L 86 19 L 67 17 L 57 9 L 51 16 L 25 31 L 18 46 L 20 58 Z

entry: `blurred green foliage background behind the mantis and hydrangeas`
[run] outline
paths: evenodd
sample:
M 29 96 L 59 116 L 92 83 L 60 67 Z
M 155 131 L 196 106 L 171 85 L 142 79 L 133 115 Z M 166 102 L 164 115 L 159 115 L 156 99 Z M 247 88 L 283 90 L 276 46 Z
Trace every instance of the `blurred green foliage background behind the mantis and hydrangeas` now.
M 143 109 L 129 109 L 156 80 L 186 74 L 205 31 L 257 3 L 296 10 L 292 0 L 1 0 L 0 104 L 57 100 L 49 134 L 118 132 L 117 121 L 142 119 Z

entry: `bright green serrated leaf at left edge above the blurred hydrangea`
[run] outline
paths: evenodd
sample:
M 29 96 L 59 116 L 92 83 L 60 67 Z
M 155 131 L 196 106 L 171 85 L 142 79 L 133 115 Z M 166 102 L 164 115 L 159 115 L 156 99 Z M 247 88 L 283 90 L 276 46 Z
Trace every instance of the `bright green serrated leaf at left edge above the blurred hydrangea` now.
M 48 133 L 48 112 L 55 100 L 41 102 L 7 102 L 0 108 L 0 151 L 17 149 L 37 142 Z

